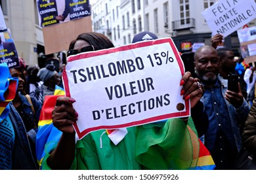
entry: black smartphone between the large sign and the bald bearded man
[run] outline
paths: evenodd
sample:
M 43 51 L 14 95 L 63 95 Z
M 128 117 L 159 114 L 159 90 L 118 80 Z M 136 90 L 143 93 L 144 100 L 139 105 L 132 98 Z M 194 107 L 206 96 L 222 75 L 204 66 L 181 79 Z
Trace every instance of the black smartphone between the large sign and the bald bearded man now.
M 181 59 L 183 61 L 185 72 L 189 71 L 192 77 L 196 78 L 195 66 L 194 66 L 194 52 L 185 52 L 181 54 Z

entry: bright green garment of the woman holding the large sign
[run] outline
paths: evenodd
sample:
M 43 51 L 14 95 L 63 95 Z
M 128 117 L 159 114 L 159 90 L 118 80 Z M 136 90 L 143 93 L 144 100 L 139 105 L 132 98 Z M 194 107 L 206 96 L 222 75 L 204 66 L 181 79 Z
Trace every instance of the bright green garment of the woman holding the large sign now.
M 188 125 L 195 131 L 192 121 L 189 120 Z M 77 141 L 70 169 L 189 169 L 192 165 L 191 136 L 182 120 L 175 118 L 165 123 L 127 127 L 127 131 L 117 145 L 104 130 L 89 133 Z M 50 169 L 47 158 L 57 143 L 46 144 L 42 169 Z

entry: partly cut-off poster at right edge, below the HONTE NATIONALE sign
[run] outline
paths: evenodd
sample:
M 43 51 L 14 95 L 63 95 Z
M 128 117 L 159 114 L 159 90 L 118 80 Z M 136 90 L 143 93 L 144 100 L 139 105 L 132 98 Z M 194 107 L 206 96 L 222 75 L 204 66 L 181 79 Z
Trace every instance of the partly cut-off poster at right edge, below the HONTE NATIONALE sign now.
M 240 50 L 245 63 L 253 63 L 256 61 L 256 27 L 248 27 L 240 29 L 238 39 L 240 42 Z

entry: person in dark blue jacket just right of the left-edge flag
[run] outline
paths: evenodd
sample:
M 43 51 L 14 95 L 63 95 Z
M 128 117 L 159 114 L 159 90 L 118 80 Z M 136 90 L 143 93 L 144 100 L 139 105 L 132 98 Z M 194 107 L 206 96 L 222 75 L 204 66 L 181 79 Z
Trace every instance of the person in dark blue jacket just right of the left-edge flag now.
M 18 88 L 12 104 L 20 114 L 24 122 L 30 146 L 32 148 L 33 157 L 35 156 L 35 137 L 37 134 L 37 126 L 42 105 L 34 97 L 26 95 L 24 88 L 26 87 L 26 78 L 21 67 L 10 69 L 12 77 L 18 78 Z

